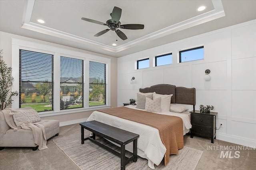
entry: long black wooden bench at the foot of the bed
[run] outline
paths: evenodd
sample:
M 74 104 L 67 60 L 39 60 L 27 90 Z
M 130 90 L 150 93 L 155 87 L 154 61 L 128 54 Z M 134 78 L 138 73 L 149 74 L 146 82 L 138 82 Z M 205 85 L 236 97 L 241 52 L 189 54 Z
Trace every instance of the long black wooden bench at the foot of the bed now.
M 121 158 L 121 170 L 125 170 L 126 164 L 130 162 L 137 162 L 137 139 L 138 134 L 131 133 L 116 127 L 100 123 L 98 121 L 88 121 L 80 123 L 81 125 L 81 143 L 84 144 L 84 141 L 89 139 L 90 141 L 96 143 L 100 147 L 112 152 L 113 154 Z M 84 129 L 92 132 L 92 136 L 84 138 Z M 114 143 L 119 144 L 121 147 L 121 153 L 116 152 L 113 149 L 103 145 L 102 143 L 95 140 L 95 134 L 104 137 Z M 133 156 L 128 158 L 125 156 L 125 145 L 133 142 Z

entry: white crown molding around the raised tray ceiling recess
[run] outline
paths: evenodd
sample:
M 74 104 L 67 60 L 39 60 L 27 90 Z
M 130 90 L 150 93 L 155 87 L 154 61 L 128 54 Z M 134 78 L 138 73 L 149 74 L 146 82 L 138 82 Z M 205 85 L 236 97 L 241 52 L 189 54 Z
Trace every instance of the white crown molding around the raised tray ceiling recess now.
M 140 37 L 138 39 L 135 39 L 133 41 L 125 43 L 123 45 L 119 45 L 118 47 L 112 47 L 110 45 L 99 43 L 97 41 L 86 39 L 86 38 L 83 38 L 83 37 L 80 37 L 77 35 L 73 35 L 70 33 L 66 33 L 64 31 L 60 31 L 57 29 L 53 29 L 50 27 L 46 27 L 46 26 L 31 22 L 30 19 L 32 16 L 33 8 L 34 8 L 34 3 L 35 3 L 35 0 L 26 0 L 25 1 L 25 8 L 24 8 L 23 19 L 22 19 L 22 28 L 36 31 L 39 33 L 44 33 L 44 34 L 51 35 L 54 37 L 59 37 L 62 39 L 67 39 L 67 40 L 74 41 L 77 43 L 91 45 L 91 46 L 98 47 L 100 49 L 103 49 L 106 51 L 111 51 L 114 53 L 118 53 L 125 49 L 129 49 L 130 47 L 134 47 L 135 45 L 137 45 L 138 43 L 142 43 L 143 41 L 150 41 L 153 39 L 164 37 L 166 35 L 176 33 L 178 31 L 181 31 L 181 30 L 184 30 L 184 29 L 196 26 L 196 25 L 200 25 L 202 23 L 212 21 L 217 18 L 221 18 L 221 17 L 225 16 L 225 12 L 224 12 L 221 0 L 212 0 L 214 10 L 211 10 L 204 14 L 200 14 L 198 16 L 195 16 L 195 17 L 190 18 L 185 21 L 181 21 L 179 23 L 176 23 L 176 24 L 166 27 L 164 29 L 160 29 L 158 31 L 155 31 L 153 33 L 150 33 L 148 35 L 145 35 L 143 37 Z

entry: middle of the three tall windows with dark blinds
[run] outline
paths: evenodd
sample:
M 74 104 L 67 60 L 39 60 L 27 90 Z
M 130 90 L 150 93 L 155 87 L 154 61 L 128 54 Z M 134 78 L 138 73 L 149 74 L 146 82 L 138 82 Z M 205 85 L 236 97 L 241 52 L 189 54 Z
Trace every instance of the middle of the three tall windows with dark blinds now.
M 60 109 L 84 107 L 84 61 L 60 57 Z

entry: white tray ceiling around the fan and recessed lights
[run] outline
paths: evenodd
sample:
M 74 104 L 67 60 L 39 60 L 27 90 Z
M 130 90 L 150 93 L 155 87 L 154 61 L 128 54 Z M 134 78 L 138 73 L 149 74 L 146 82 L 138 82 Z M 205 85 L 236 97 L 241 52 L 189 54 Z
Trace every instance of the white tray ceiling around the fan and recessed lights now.
M 207 8 L 198 12 L 201 5 Z M 105 23 L 114 6 L 122 9 L 121 24 L 144 29 L 120 29 L 124 41 L 111 30 L 94 37 L 108 27 L 81 18 Z M 0 0 L 0 31 L 121 57 L 254 20 L 255 8 L 256 0 Z

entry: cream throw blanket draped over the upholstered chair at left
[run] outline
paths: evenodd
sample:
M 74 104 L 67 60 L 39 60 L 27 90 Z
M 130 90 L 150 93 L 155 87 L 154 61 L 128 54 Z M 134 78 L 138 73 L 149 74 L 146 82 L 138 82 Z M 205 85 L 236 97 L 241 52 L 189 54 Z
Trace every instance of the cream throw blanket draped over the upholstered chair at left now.
M 18 129 L 26 129 L 26 130 L 32 130 L 33 137 L 34 137 L 34 143 L 38 145 L 39 150 L 48 149 L 46 146 L 46 135 L 45 135 L 45 129 L 44 126 L 40 123 L 24 123 L 20 125 L 20 127 L 17 127 L 15 124 L 12 115 L 10 115 L 10 112 L 17 112 L 16 109 L 6 108 L 2 110 L 4 113 L 4 118 L 6 119 L 6 123 L 10 126 L 10 128 L 14 129 L 14 131 L 17 131 Z

